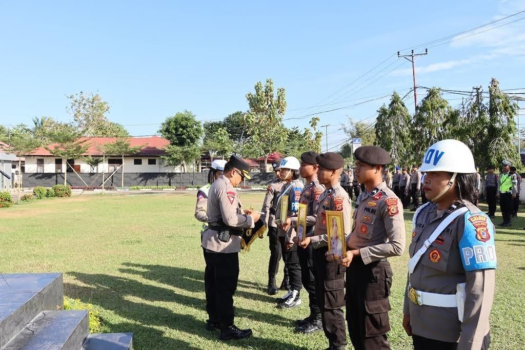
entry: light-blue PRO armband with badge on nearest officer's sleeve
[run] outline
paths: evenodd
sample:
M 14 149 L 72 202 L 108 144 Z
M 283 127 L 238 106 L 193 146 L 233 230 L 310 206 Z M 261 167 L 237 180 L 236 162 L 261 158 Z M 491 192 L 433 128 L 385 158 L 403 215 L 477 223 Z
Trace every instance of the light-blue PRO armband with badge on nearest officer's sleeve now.
M 459 253 L 466 271 L 496 269 L 494 233 L 494 225 L 485 214 L 465 213 L 465 231 L 459 241 Z

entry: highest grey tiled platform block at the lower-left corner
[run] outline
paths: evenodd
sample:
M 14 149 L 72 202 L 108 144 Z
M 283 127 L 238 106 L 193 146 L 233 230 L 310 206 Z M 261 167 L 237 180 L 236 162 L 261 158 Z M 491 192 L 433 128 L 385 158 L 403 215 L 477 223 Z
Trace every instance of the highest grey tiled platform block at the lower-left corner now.
M 64 307 L 61 273 L 17 273 L 0 277 L 0 348 L 44 310 Z

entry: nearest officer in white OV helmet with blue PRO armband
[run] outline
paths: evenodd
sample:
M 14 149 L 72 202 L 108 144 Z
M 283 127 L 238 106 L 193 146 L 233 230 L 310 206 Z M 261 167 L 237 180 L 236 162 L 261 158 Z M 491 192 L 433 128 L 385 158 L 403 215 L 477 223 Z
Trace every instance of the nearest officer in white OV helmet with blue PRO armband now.
M 471 203 L 476 169 L 457 140 L 428 149 L 431 200 L 414 214 L 403 327 L 419 349 L 488 349 L 494 296 L 495 228 Z

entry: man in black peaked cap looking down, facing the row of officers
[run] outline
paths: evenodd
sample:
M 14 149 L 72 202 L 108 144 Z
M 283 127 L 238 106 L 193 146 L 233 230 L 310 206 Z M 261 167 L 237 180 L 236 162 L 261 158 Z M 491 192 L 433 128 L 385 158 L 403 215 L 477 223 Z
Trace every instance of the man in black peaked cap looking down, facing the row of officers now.
M 208 192 L 208 227 L 204 230 L 202 247 L 206 268 L 214 271 L 214 290 L 206 297 L 215 296 L 215 310 L 209 315 L 212 326 L 220 327 L 220 339 L 240 339 L 252 335 L 251 330 L 241 330 L 235 323 L 233 295 L 239 278 L 239 250 L 243 228 L 253 228 L 259 220 L 256 211 L 241 211 L 239 195 L 235 190 L 248 176 L 249 165 L 243 159 L 232 155 Z M 209 288 L 206 285 L 205 288 Z M 206 304 L 211 301 L 207 300 Z M 218 324 L 216 323 L 218 321 Z

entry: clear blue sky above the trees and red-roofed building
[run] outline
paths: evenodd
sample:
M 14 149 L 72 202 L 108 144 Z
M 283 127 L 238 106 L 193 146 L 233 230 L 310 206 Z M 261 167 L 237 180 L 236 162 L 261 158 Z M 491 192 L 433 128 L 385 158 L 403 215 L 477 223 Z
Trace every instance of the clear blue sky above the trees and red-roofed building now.
M 98 92 L 111 105 L 108 118 L 132 135 L 154 134 L 155 123 L 184 109 L 203 121 L 246 110 L 245 94 L 266 78 L 286 88 L 286 119 L 393 90 L 404 95 L 412 70 L 397 50 L 524 9 L 524 0 L 2 2 L 0 124 L 30 124 L 34 116 L 70 120 L 65 95 L 79 91 Z M 488 91 L 495 77 L 502 89 L 525 88 L 524 63 L 521 20 L 429 47 L 416 60 L 417 83 Z M 445 97 L 452 105 L 461 98 Z M 329 148 L 345 139 L 339 129 L 349 116 L 369 118 L 387 101 L 319 114 L 321 125 L 332 124 Z M 412 111 L 412 98 L 405 101 Z M 329 105 L 304 109 L 319 104 Z M 285 124 L 303 127 L 309 118 Z

